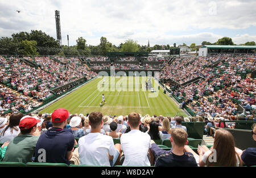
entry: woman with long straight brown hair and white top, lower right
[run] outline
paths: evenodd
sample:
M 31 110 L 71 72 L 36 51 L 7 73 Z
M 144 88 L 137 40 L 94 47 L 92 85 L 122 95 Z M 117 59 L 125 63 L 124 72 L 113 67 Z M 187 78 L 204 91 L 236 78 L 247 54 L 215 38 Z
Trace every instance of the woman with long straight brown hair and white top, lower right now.
M 233 135 L 225 129 L 218 129 L 214 135 L 213 149 L 216 150 L 216 162 L 209 162 L 207 166 L 237 166 L 237 158 L 241 164 L 240 156 L 236 153 Z

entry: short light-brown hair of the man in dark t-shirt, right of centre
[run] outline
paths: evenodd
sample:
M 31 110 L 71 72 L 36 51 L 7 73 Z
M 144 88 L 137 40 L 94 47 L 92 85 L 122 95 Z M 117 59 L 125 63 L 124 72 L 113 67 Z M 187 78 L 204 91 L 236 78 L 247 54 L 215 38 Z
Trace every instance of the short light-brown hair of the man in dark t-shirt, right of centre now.
M 188 133 L 182 128 L 175 128 L 171 131 L 172 140 L 177 146 L 184 146 L 188 139 Z

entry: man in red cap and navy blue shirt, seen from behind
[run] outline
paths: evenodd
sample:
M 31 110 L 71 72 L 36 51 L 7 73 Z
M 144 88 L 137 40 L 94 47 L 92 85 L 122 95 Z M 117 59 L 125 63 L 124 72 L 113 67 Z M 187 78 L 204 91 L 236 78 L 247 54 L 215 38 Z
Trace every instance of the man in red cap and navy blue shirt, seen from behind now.
M 52 127 L 40 135 L 35 148 L 35 162 L 65 163 L 69 165 L 75 137 L 71 129 L 64 129 L 70 113 L 67 109 L 55 109 Z

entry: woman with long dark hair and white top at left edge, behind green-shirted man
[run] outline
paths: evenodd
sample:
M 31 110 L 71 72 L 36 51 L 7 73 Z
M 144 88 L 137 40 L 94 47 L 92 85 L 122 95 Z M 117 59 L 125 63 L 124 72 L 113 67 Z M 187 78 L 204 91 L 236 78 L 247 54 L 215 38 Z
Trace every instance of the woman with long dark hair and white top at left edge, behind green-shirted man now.
M 19 130 L 19 121 L 23 117 L 23 113 L 13 113 L 9 118 L 9 125 L 2 131 L 0 135 L 0 142 L 11 141 L 14 137 L 18 136 L 20 133 Z

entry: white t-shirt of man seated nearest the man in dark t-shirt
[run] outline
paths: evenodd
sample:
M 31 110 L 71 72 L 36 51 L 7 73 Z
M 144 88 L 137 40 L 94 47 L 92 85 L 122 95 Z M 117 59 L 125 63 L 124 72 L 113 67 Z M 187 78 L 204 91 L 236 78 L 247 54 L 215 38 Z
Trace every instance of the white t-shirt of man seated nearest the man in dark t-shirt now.
M 121 150 L 125 154 L 122 166 L 150 166 L 147 158 L 148 149 L 151 148 L 150 140 L 150 135 L 140 130 L 122 134 Z

